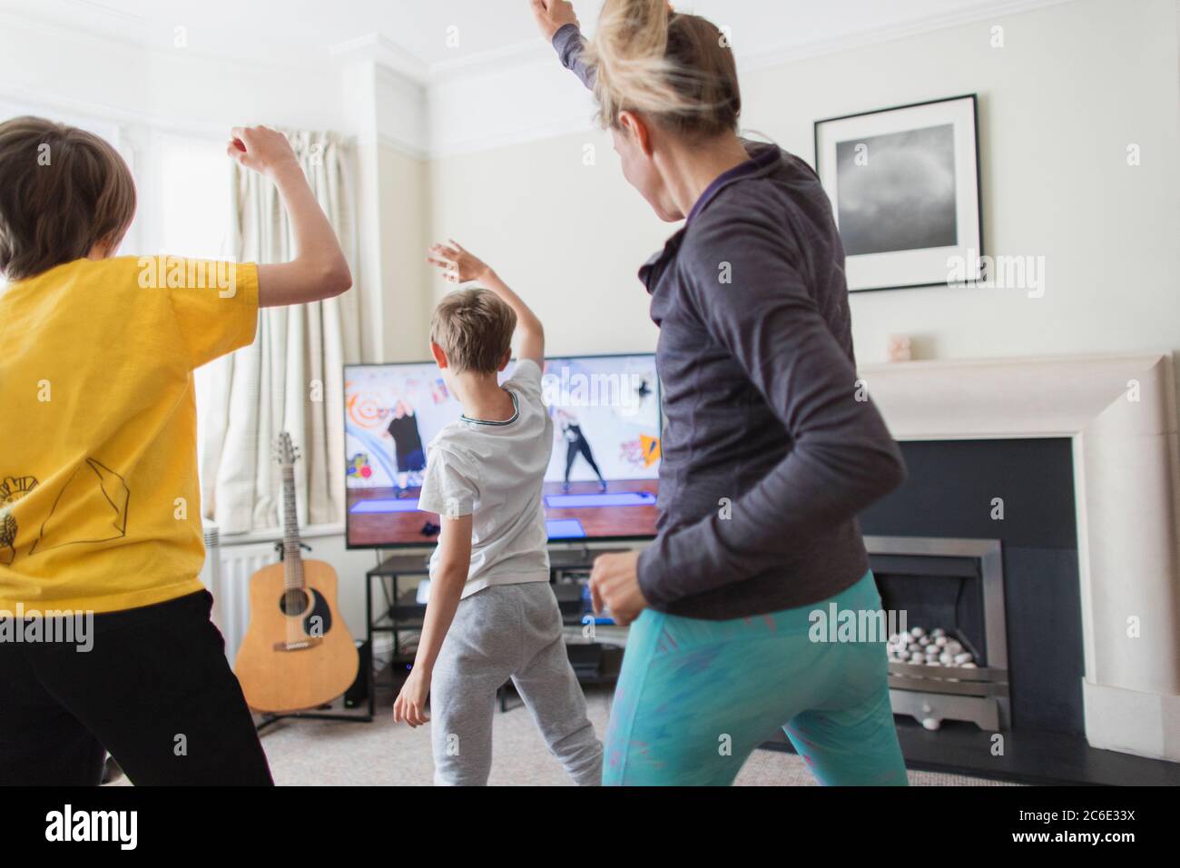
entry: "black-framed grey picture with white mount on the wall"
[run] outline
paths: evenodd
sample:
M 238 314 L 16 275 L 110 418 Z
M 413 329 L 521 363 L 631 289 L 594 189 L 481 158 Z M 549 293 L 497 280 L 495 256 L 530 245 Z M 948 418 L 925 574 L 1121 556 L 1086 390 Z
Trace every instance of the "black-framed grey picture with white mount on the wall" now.
M 815 122 L 850 292 L 981 279 L 976 96 Z

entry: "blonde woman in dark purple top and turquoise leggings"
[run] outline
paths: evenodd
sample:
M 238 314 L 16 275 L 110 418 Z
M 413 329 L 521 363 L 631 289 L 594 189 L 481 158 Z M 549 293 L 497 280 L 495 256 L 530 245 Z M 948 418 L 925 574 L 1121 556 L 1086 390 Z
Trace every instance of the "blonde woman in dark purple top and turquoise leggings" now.
M 820 182 L 738 136 L 736 67 L 709 21 L 607 0 L 588 44 L 570 4 L 532 7 L 623 175 L 686 221 L 640 272 L 668 418 L 658 534 L 591 577 L 596 606 L 631 624 L 604 781 L 728 784 L 784 726 L 821 783 L 905 784 L 885 637 L 808 634 L 831 606 L 880 608 L 856 515 L 905 474 L 858 393 Z

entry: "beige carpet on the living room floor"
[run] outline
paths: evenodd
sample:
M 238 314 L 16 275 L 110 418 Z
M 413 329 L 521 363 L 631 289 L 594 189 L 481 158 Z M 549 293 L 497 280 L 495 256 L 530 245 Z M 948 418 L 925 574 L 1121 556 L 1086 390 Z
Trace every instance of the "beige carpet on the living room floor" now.
M 371 724 L 284 720 L 263 733 L 275 783 L 280 785 L 430 785 L 430 725 L 411 730 L 394 726 L 391 700 L 382 693 L 378 719 Z M 590 719 L 599 736 L 609 716 L 610 691 L 588 688 Z M 529 711 L 513 699 L 509 711 L 497 711 L 493 724 L 494 758 L 489 783 L 502 787 L 562 787 L 569 779 L 545 749 Z M 963 775 L 911 771 L 917 787 L 1003 787 L 1007 784 Z M 738 784 L 746 787 L 814 787 L 815 781 L 793 753 L 758 750 Z

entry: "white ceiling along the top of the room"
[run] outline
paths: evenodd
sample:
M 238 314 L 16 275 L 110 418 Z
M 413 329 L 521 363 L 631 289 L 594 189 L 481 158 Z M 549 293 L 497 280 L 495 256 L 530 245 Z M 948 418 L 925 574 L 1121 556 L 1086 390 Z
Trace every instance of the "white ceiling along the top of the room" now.
M 1060 0 L 686 0 L 677 6 L 732 27 L 742 58 L 789 56 L 1053 1 Z M 575 6 L 589 28 L 602 0 Z M 539 45 L 529 0 L 38 0 L 35 7 L 30 0 L 0 0 L 0 9 L 162 48 L 171 48 L 176 28 L 184 27 L 195 52 L 283 64 L 322 63 L 341 46 L 376 34 L 424 73 Z M 447 44 L 451 33 L 458 47 Z

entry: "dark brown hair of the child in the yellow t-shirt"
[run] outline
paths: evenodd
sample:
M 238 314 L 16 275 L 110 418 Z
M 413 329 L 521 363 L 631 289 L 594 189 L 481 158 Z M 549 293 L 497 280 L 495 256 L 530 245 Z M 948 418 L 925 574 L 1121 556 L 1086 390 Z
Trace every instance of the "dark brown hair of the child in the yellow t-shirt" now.
M 0 124 L 0 275 L 24 280 L 118 247 L 136 214 L 131 170 L 92 132 L 35 117 Z

